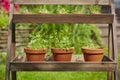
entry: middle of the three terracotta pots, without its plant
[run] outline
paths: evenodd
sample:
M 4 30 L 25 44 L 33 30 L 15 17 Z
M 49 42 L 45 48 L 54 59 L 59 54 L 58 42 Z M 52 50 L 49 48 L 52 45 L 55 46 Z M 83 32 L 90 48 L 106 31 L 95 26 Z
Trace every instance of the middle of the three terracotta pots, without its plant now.
M 54 61 L 71 61 L 74 48 L 52 48 Z

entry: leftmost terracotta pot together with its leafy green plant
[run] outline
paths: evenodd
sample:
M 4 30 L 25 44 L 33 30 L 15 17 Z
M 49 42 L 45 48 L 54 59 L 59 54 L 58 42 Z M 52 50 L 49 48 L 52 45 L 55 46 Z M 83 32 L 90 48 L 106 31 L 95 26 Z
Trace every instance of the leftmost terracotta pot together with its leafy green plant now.
M 31 37 L 28 47 L 24 48 L 27 61 L 44 61 L 47 53 L 47 41 L 40 34 Z

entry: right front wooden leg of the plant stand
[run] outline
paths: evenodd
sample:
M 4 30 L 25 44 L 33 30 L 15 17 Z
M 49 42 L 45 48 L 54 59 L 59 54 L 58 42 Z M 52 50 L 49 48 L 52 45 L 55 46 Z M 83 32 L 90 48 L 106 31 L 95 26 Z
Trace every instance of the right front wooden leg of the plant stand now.
M 116 33 L 116 13 L 114 0 L 111 0 L 111 12 L 114 14 L 113 27 L 112 27 L 112 46 L 113 46 L 113 60 L 117 63 L 116 70 L 114 72 L 114 80 L 118 80 L 118 48 L 117 48 L 117 33 Z

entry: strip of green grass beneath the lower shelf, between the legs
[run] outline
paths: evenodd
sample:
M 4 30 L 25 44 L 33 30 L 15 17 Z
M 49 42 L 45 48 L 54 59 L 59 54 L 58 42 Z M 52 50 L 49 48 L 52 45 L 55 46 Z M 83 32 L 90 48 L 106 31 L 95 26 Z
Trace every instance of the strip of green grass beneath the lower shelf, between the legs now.
M 106 80 L 105 72 L 23 72 L 18 74 L 18 80 Z

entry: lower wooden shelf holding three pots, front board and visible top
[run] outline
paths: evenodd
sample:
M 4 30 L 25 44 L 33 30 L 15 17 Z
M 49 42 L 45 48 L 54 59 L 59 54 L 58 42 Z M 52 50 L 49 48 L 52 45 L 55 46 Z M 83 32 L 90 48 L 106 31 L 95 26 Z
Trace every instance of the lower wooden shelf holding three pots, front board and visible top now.
M 71 62 L 28 62 L 25 56 L 19 55 L 10 64 L 12 71 L 115 71 L 117 66 L 106 56 L 102 62 L 84 62 L 80 55 L 73 55 Z

